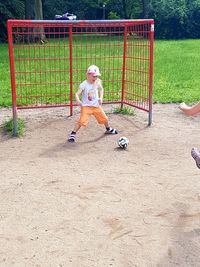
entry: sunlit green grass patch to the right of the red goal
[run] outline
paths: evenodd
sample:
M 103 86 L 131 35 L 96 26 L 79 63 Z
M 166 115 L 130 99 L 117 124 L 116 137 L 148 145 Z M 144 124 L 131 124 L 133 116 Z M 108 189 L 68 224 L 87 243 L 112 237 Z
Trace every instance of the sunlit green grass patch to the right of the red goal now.
M 200 98 L 200 40 L 156 41 L 154 102 L 188 102 Z

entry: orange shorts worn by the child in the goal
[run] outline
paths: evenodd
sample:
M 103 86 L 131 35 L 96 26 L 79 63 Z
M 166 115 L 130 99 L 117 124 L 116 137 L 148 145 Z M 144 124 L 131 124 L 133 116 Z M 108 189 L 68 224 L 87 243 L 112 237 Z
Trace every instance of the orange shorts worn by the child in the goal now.
M 79 125 L 86 126 L 89 122 L 90 115 L 93 115 L 99 124 L 108 122 L 108 117 L 102 107 L 81 107 L 81 115 L 78 121 Z

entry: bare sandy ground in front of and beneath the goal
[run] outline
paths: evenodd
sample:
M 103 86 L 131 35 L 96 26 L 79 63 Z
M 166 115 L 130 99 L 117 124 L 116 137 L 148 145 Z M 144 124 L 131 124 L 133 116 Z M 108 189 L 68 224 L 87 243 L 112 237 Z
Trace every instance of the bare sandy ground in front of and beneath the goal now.
M 118 135 L 91 119 L 70 144 L 78 111 L 18 114 L 25 136 L 0 133 L 1 267 L 200 266 L 200 116 L 157 104 L 147 127 L 145 112 L 109 114 Z

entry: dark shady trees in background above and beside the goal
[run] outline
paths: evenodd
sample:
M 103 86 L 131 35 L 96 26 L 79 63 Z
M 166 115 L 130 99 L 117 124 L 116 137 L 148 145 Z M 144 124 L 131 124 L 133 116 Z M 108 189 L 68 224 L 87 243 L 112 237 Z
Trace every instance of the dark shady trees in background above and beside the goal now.
M 104 9 L 104 7 L 105 9 Z M 155 20 L 159 39 L 200 38 L 200 0 L 0 0 L 0 41 L 7 40 L 6 21 L 54 19 L 74 13 L 77 19 Z

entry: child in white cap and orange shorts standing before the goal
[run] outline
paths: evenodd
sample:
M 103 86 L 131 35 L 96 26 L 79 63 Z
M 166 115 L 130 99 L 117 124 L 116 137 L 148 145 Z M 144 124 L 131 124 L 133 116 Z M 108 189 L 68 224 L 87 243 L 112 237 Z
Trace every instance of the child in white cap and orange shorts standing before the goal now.
M 87 69 L 87 80 L 80 84 L 76 92 L 76 102 L 81 106 L 81 114 L 74 130 L 69 135 L 69 142 L 75 142 L 76 133 L 82 126 L 88 124 L 90 115 L 94 115 L 99 124 L 104 124 L 106 134 L 117 134 L 117 130 L 109 126 L 108 117 L 101 107 L 103 102 L 103 86 L 99 76 L 101 76 L 99 68 L 91 65 Z M 81 100 L 80 96 L 82 96 Z

